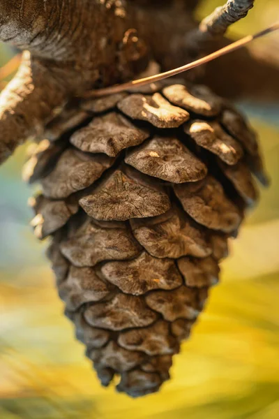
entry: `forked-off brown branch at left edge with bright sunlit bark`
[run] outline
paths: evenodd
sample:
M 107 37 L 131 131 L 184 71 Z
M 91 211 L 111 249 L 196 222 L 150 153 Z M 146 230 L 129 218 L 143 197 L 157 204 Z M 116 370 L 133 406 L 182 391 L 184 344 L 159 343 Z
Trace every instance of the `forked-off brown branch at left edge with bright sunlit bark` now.
M 24 52 L 15 78 L 0 95 L 0 162 L 29 135 L 40 132 L 52 110 L 63 103 L 70 83 L 52 64 L 31 59 Z

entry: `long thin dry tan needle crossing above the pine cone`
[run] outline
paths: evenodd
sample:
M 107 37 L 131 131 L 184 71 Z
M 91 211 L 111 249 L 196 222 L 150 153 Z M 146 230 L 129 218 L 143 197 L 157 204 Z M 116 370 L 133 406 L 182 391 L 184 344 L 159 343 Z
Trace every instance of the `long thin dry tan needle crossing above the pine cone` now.
M 270 27 L 264 29 L 263 31 L 257 32 L 257 34 L 245 36 L 244 38 L 239 39 L 239 41 L 236 41 L 230 45 L 227 45 L 226 47 L 223 47 L 220 50 L 217 50 L 215 52 L 212 52 L 211 54 L 206 55 L 206 57 L 199 58 L 196 61 L 186 64 L 185 66 L 174 68 L 173 70 L 165 71 L 165 73 L 151 75 L 149 77 L 142 78 L 139 80 L 133 80 L 131 82 L 126 82 L 123 84 L 116 84 L 111 87 L 105 87 L 104 89 L 91 90 L 87 92 L 83 97 L 84 98 L 97 98 L 100 96 L 107 96 L 109 94 L 119 93 L 121 91 L 133 89 L 133 87 L 140 87 L 146 84 L 150 84 L 152 82 L 158 82 L 160 80 L 164 80 L 165 78 L 172 77 L 173 75 L 177 75 L 177 74 L 183 73 L 184 71 L 191 70 L 192 68 L 202 66 L 202 64 L 206 64 L 209 61 L 213 61 L 213 59 L 222 57 L 225 54 L 229 54 L 229 52 L 239 50 L 239 48 L 244 47 L 245 45 L 254 41 L 255 39 L 262 38 L 262 36 L 271 34 L 271 32 L 277 31 L 278 29 L 279 29 L 279 22 L 276 22 L 272 24 Z

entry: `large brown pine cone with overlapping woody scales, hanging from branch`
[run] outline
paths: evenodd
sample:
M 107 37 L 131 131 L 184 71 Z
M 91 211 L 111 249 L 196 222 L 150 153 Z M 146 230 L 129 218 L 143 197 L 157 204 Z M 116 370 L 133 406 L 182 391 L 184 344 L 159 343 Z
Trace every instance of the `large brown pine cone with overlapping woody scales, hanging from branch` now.
M 156 392 L 266 184 L 256 135 L 204 86 L 69 103 L 24 167 L 36 235 L 103 385 Z

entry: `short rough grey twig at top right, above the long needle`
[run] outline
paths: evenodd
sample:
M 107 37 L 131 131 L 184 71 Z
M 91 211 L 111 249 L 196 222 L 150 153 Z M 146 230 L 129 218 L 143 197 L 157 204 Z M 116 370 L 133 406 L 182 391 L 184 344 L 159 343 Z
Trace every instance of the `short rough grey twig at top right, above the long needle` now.
M 191 50 L 200 51 L 211 41 L 223 36 L 231 24 L 246 17 L 254 6 L 254 1 L 227 0 L 224 6 L 216 8 L 211 15 L 202 20 L 197 29 L 188 34 L 187 40 Z

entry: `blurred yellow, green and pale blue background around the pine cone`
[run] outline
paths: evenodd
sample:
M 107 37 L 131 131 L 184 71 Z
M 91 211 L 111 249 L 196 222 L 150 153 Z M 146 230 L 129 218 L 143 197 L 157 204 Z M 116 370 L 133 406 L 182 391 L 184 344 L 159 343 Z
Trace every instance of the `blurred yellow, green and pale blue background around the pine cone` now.
M 218 5 L 205 0 L 197 15 Z M 257 1 L 231 32 L 262 29 L 278 15 L 278 0 Z M 13 51 L 0 45 L 0 55 L 1 66 Z M 279 103 L 239 106 L 259 131 L 272 186 L 231 243 L 221 283 L 176 356 L 172 380 L 144 399 L 100 387 L 63 317 L 45 243 L 28 226 L 24 147 L 1 167 L 0 418 L 279 418 Z

